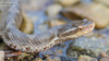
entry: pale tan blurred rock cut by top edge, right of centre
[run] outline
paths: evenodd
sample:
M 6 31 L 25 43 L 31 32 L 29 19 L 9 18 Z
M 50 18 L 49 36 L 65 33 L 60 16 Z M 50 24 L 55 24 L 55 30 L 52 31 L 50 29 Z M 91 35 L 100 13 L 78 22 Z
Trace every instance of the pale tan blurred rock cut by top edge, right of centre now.
M 72 5 L 72 4 L 75 4 L 77 3 L 80 0 L 55 0 L 55 2 L 57 3 L 61 3 L 63 7 L 69 7 L 69 5 Z

